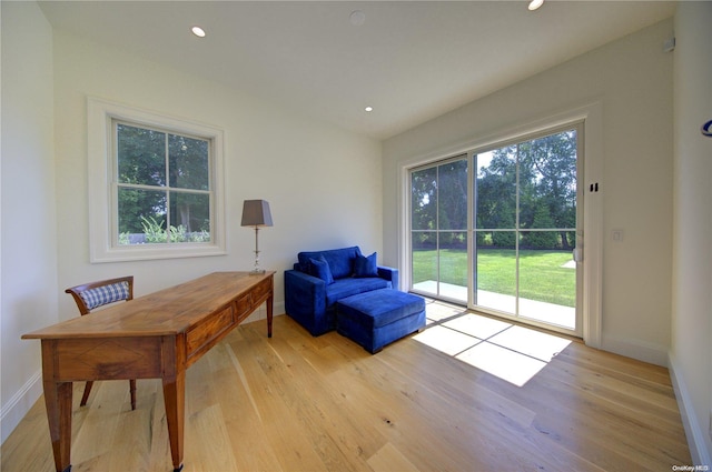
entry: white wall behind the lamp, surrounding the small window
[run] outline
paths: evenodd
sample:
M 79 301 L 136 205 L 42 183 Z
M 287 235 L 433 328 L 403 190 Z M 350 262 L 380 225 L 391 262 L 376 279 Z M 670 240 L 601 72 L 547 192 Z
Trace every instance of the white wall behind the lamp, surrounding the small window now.
M 243 200 L 266 199 L 275 225 L 259 232 L 260 263 L 283 271 L 301 250 L 359 244 L 382 248 L 380 143 L 316 122 L 248 94 L 118 50 L 55 33 L 59 285 L 131 273 L 141 295 L 217 270 L 249 270 L 251 229 Z M 89 263 L 87 97 L 187 118 L 225 130 L 226 257 Z M 60 318 L 76 315 L 59 295 Z

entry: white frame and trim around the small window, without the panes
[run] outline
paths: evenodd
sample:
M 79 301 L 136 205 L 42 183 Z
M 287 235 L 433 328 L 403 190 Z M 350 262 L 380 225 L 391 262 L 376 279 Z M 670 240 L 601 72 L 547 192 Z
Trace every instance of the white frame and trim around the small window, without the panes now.
M 224 131 L 210 125 L 176 119 L 149 111 L 88 99 L 88 198 L 89 198 L 89 260 L 91 263 L 138 261 L 150 259 L 177 259 L 224 255 L 225 185 Z M 113 234 L 118 221 L 115 193 L 113 122 L 160 128 L 177 134 L 189 134 L 211 142 L 211 200 L 210 243 L 131 244 L 119 245 Z

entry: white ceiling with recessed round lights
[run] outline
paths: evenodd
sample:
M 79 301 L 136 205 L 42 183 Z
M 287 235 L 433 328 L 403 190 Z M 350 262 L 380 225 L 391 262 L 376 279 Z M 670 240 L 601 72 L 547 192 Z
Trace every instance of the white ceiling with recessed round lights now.
M 674 13 L 666 1 L 48 1 L 53 28 L 386 139 Z M 365 13 L 354 26 L 349 14 Z M 190 33 L 201 26 L 207 37 Z M 662 44 L 661 44 L 662 49 Z M 364 111 L 372 106 L 374 111 Z

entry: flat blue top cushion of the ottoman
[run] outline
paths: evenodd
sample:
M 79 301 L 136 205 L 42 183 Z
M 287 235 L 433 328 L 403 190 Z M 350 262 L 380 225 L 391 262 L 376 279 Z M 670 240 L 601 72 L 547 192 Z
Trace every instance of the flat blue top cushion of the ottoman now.
M 380 328 L 423 310 L 423 298 L 390 289 L 374 290 L 338 301 L 338 315 L 357 319 L 366 329 Z

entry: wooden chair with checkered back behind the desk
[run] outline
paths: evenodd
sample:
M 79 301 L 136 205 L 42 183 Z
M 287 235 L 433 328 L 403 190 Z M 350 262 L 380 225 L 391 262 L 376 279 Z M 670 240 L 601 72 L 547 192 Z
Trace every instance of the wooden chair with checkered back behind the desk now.
M 134 299 L 134 275 L 120 277 L 117 279 L 100 280 L 98 282 L 85 283 L 65 290 L 72 295 L 79 308 L 79 313 L 83 317 L 91 310 L 118 301 Z M 91 392 L 93 381 L 87 381 L 85 393 L 81 395 L 80 406 L 87 404 L 89 392 Z M 131 410 L 136 410 L 136 380 L 129 380 L 131 392 Z

